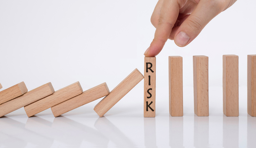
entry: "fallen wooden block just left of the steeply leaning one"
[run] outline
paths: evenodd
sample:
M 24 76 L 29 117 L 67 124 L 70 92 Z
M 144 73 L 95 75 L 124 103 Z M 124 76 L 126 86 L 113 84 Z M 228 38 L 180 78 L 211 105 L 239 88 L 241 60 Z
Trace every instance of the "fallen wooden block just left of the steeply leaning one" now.
M 64 101 L 58 105 L 53 106 L 52 112 L 55 117 L 62 115 L 68 111 L 71 111 L 77 107 L 83 106 L 101 97 L 107 96 L 109 94 L 109 89 L 106 83 L 102 83 L 91 89 L 83 92 L 83 94 Z

